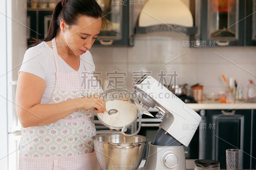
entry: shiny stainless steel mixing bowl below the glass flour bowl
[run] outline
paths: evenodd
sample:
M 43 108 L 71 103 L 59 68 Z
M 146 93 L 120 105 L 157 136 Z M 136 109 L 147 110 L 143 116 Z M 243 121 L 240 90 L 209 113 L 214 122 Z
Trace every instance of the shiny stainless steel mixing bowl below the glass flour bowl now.
M 102 170 L 137 169 L 143 158 L 147 137 L 102 134 L 92 137 L 97 160 Z

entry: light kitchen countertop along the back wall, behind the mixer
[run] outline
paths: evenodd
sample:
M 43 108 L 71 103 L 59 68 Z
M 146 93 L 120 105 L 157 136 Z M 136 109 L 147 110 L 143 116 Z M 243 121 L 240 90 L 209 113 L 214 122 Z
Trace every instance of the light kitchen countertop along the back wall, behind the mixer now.
M 246 100 L 236 100 L 235 103 L 220 103 L 219 100 L 204 100 L 200 103 L 187 103 L 194 110 L 201 109 L 256 109 L 256 102 L 249 103 Z M 156 108 L 149 108 L 149 112 L 157 112 Z

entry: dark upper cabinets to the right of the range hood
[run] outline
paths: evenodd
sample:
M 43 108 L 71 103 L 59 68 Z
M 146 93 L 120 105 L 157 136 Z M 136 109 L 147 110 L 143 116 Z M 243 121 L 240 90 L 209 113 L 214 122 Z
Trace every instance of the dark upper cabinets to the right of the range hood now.
M 195 2 L 198 30 L 191 40 L 198 42 L 197 47 L 200 42 L 216 46 L 255 45 L 255 0 Z

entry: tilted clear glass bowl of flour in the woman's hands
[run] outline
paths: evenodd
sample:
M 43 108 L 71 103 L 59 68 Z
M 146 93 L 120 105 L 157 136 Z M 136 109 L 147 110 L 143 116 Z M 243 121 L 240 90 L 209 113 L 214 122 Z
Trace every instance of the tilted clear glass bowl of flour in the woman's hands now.
M 131 112 L 129 112 L 129 111 L 127 112 L 128 114 L 131 114 L 131 117 L 128 116 L 129 119 L 127 119 L 126 116 L 122 117 L 122 116 L 116 115 L 116 114 L 119 114 L 119 113 L 116 113 L 116 114 L 113 114 L 113 115 L 109 115 L 107 112 L 105 112 L 104 114 L 103 113 L 97 113 L 97 117 L 100 120 L 100 122 L 102 124 L 104 124 L 105 126 L 107 126 L 108 128 L 122 129 L 124 126 L 129 127 L 137 119 L 138 114 L 139 114 L 139 109 L 135 105 L 135 103 L 139 104 L 139 100 L 136 97 L 136 95 L 134 93 L 130 92 L 129 90 L 127 90 L 125 88 L 121 88 L 121 87 L 111 88 L 111 89 L 108 89 L 108 90 L 102 92 L 100 94 L 100 98 L 102 100 L 104 100 L 105 102 L 114 101 L 114 100 L 121 100 L 121 101 L 124 101 L 124 102 L 128 102 L 131 105 L 134 105 L 132 107 L 136 108 L 136 113 L 133 113 L 132 110 L 131 110 Z M 119 103 L 122 103 L 122 102 L 119 102 Z M 126 104 L 126 103 L 123 103 L 123 104 Z M 106 107 L 107 107 L 107 111 L 109 111 L 110 109 L 116 109 L 118 111 L 122 109 L 122 105 L 116 105 L 113 108 L 108 108 L 108 103 L 106 103 Z M 127 120 L 124 121 L 124 119 L 127 119 Z M 109 121 L 111 121 L 111 123 L 109 123 Z M 119 125 L 113 125 L 112 122 L 115 122 L 115 121 L 116 122 L 117 121 L 125 122 L 125 124 L 122 124 L 122 126 L 120 125 L 121 123 L 118 123 Z

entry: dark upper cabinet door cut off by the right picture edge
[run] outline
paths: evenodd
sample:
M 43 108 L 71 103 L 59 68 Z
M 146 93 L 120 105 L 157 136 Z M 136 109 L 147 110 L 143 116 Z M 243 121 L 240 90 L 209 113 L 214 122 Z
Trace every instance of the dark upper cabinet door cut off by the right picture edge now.
M 245 1 L 245 45 L 256 45 L 256 1 Z

